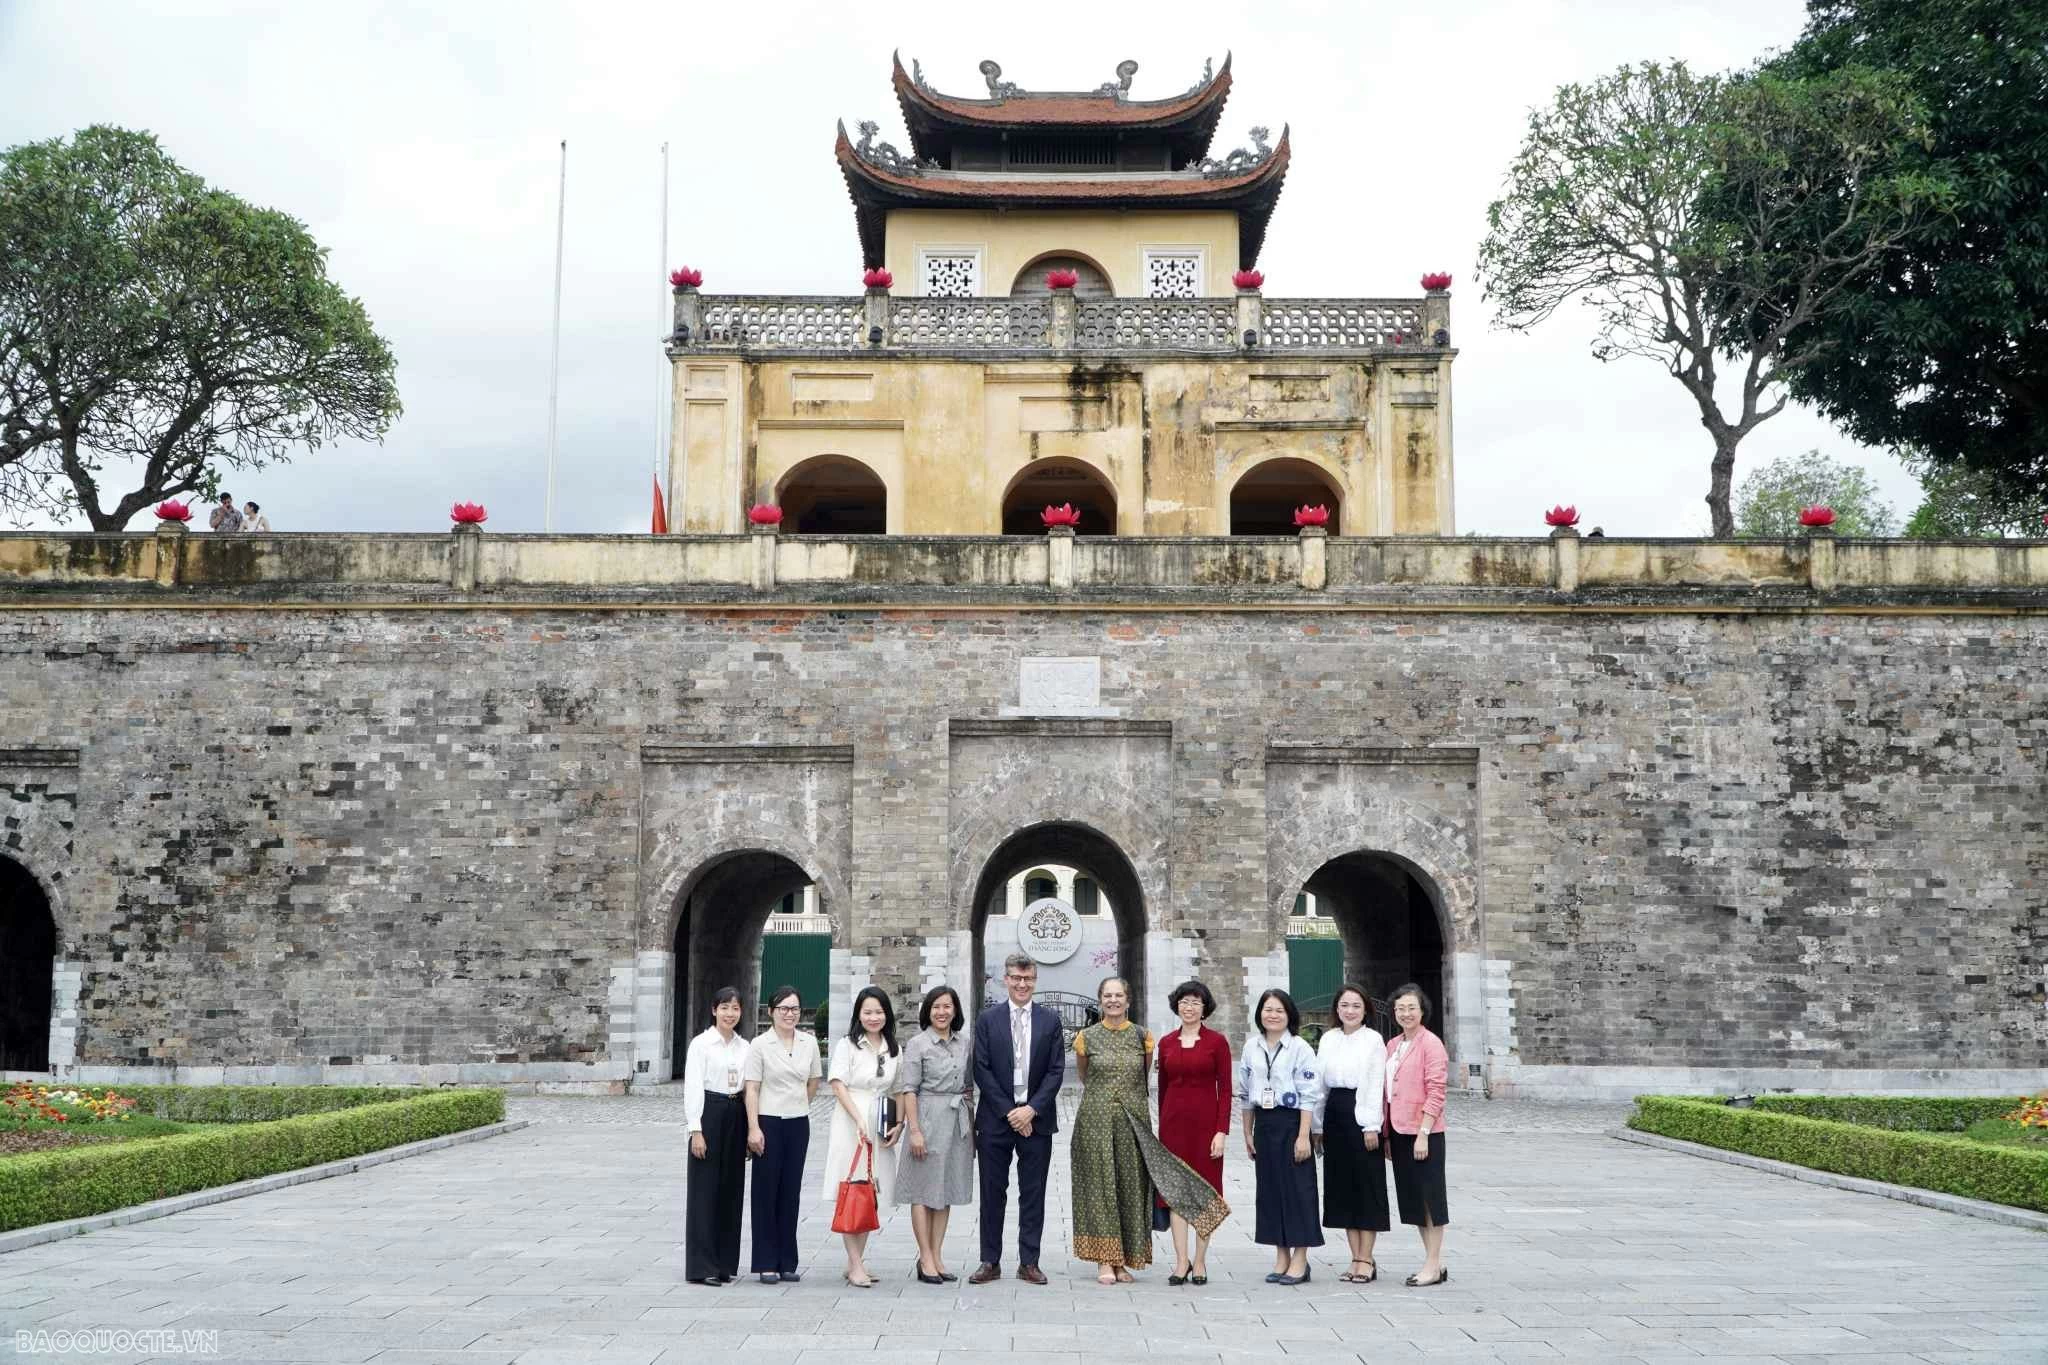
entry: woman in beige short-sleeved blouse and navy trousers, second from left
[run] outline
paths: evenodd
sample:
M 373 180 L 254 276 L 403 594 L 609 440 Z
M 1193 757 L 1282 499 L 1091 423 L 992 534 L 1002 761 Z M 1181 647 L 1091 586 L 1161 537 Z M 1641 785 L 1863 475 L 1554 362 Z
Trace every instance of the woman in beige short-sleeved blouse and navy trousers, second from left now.
M 803 1158 L 811 1150 L 811 1099 L 823 1066 L 817 1038 L 797 1027 L 803 997 L 776 986 L 774 1023 L 748 1046 L 748 1150 L 754 1152 L 754 1273 L 764 1285 L 797 1283 L 797 1212 L 803 1207 Z

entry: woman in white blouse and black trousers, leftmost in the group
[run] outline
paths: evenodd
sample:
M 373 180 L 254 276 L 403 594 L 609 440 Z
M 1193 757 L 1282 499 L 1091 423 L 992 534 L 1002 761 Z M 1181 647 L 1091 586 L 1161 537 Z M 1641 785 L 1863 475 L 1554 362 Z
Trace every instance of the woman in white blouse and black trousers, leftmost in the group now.
M 739 1275 L 739 1205 L 748 1187 L 745 1111 L 739 1072 L 739 993 L 711 997 L 711 1027 L 690 1040 L 682 1060 L 682 1115 L 690 1126 L 690 1175 L 682 1236 L 682 1273 L 692 1285 L 723 1285 Z

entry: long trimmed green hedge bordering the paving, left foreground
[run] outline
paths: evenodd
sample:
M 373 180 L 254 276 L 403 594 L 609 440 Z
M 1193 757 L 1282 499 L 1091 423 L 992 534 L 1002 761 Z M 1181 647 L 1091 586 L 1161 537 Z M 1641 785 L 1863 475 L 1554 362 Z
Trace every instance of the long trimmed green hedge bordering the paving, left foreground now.
M 197 1091 L 201 1087 L 162 1089 Z M 313 1091 L 317 1087 L 283 1089 Z M 129 1089 L 123 1087 L 123 1093 Z M 195 1189 L 344 1160 L 403 1142 L 481 1128 L 504 1115 L 506 1097 L 502 1091 L 426 1091 L 410 1093 L 406 1099 L 356 1103 L 328 1113 L 303 1113 L 203 1134 L 135 1138 L 8 1156 L 0 1160 L 0 1232 L 106 1214 L 150 1199 L 186 1195 Z

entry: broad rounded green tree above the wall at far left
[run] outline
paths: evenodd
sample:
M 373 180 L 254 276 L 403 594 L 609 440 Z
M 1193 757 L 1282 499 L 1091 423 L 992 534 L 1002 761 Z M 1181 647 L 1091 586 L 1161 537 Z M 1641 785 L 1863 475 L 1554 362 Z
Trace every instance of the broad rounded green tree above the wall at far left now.
M 397 413 L 391 350 L 295 219 L 209 188 L 147 133 L 0 153 L 0 510 L 121 530 Z

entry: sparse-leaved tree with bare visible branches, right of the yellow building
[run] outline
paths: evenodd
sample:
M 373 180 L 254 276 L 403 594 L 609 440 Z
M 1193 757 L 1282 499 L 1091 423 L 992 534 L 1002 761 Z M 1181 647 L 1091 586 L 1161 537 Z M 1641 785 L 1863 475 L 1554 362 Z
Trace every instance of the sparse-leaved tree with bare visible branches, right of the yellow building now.
M 1597 358 L 1663 364 L 1712 440 L 1706 505 L 1731 536 L 1735 450 L 1815 358 L 1794 334 L 1942 203 L 1937 176 L 1874 170 L 1921 139 L 1903 82 L 1866 70 L 1788 80 L 1645 63 L 1563 86 L 1530 115 L 1507 194 L 1487 211 L 1479 274 L 1495 325 L 1526 332 L 1581 299 L 1599 315 Z

